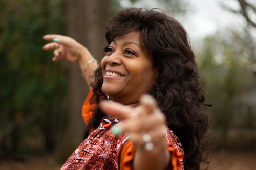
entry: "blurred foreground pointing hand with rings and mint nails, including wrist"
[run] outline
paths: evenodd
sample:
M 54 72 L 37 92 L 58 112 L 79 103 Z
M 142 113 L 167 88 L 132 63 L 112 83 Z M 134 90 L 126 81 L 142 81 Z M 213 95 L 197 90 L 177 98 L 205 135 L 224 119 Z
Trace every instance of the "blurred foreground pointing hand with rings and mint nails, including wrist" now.
M 163 163 L 161 161 L 165 159 L 168 164 L 169 153 L 166 149 L 165 117 L 158 108 L 155 99 L 150 95 L 143 95 L 140 98 L 139 106 L 134 108 L 116 102 L 102 102 L 100 107 L 104 113 L 121 121 L 112 131 L 128 133 L 136 148 L 136 154 L 138 153 L 139 155 L 137 157 L 145 159 L 144 161 L 152 160 L 153 164 L 157 162 L 158 158 L 161 159 L 159 160 L 160 163 Z M 166 157 L 161 158 L 162 155 Z M 140 162 L 144 161 L 137 161 L 139 164 L 137 166 L 139 167 L 138 169 L 142 168 Z M 166 161 L 162 166 L 167 165 Z M 144 165 L 142 164 L 142 166 Z

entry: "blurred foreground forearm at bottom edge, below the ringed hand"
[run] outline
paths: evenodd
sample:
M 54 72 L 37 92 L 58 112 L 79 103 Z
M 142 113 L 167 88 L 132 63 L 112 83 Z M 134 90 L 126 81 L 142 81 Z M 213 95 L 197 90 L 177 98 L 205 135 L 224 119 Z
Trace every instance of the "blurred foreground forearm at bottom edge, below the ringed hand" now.
M 133 168 L 143 169 L 166 169 L 170 162 L 170 153 L 166 147 L 155 147 L 152 151 L 138 149 L 135 152 Z

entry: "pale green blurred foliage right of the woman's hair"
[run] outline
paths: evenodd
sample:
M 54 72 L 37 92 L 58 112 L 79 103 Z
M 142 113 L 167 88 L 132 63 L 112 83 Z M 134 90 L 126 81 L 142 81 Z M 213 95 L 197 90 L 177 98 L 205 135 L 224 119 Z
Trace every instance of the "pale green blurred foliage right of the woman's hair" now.
M 256 98 L 253 97 L 256 95 L 256 77 L 248 69 L 254 52 L 245 43 L 249 41 L 248 37 L 246 30 L 217 32 L 206 37 L 202 51 L 197 52 L 200 70 L 207 79 L 207 99 L 213 104 L 212 127 L 220 135 L 217 141 L 221 147 L 227 147 L 228 141 L 238 138 L 242 142 L 248 130 L 256 129 Z M 237 137 L 236 140 L 233 137 Z M 255 135 L 250 136 L 250 141 L 253 140 L 256 140 Z M 241 143 L 236 144 L 242 147 Z

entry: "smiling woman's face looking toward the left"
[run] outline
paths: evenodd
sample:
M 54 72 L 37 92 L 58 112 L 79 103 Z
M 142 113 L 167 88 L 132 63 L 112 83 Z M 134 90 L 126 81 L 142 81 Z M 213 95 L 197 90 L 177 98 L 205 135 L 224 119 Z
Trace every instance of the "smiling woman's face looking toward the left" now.
M 101 60 L 102 91 L 114 101 L 137 103 L 156 84 L 158 69 L 153 57 L 140 44 L 140 32 L 133 31 L 117 37 Z

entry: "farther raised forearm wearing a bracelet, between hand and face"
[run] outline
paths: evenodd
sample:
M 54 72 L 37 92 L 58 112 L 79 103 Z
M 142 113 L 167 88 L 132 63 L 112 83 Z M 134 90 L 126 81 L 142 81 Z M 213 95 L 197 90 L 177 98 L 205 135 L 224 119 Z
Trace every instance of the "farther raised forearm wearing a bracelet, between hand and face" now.
M 87 85 L 91 87 L 95 79 L 94 71 L 98 68 L 97 61 L 85 47 L 82 47 L 80 55 L 78 64 L 80 66 L 82 77 L 86 80 Z

